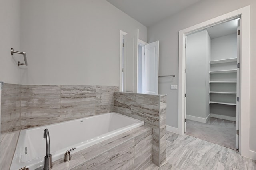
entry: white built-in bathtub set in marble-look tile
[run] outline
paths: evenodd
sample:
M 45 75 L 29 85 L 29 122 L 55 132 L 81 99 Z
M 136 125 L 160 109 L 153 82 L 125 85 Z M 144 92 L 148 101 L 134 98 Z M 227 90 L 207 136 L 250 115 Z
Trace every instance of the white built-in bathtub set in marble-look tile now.
M 71 151 L 74 154 L 141 125 L 144 125 L 143 121 L 112 112 L 21 130 L 10 170 L 18 170 L 24 166 L 34 170 L 44 166 L 46 142 L 43 134 L 46 128 L 50 134 L 53 162 L 64 158 L 66 150 L 76 147 Z

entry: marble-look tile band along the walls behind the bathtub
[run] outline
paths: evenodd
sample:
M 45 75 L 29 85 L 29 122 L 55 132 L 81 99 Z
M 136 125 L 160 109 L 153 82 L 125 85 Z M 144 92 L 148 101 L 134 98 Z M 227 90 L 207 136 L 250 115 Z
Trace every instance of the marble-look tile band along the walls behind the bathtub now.
M 112 112 L 114 91 L 119 87 L 5 84 L 1 133 Z

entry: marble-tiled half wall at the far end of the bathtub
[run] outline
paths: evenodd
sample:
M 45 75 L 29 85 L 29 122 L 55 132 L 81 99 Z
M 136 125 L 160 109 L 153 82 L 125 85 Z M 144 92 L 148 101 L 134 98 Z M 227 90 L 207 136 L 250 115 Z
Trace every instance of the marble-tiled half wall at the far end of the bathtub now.
M 114 111 L 153 128 L 153 162 L 166 160 L 166 95 L 114 92 Z

